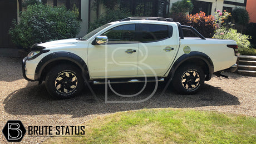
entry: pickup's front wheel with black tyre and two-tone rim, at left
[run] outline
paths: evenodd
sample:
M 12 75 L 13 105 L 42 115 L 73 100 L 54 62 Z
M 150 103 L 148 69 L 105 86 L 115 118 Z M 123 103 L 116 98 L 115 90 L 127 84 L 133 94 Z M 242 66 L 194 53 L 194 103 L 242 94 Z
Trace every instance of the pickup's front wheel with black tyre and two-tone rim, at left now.
M 53 67 L 46 76 L 46 89 L 53 98 L 66 99 L 81 92 L 83 78 L 79 68 L 71 64 Z

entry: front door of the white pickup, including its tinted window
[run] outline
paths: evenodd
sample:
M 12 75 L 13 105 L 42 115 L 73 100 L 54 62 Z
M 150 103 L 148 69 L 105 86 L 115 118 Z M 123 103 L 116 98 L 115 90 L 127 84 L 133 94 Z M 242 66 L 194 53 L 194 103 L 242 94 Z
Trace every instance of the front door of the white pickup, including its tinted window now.
M 114 27 L 101 34 L 109 38 L 107 44 L 89 44 L 87 57 L 92 78 L 137 76 L 136 27 L 137 24 Z

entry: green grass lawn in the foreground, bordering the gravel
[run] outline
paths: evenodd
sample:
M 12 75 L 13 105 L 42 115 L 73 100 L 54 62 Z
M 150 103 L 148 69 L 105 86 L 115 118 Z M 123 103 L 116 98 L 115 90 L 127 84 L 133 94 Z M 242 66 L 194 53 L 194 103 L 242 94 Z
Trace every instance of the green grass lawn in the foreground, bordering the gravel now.
M 213 111 L 144 109 L 84 125 L 84 137 L 53 137 L 45 143 L 256 143 L 255 117 Z

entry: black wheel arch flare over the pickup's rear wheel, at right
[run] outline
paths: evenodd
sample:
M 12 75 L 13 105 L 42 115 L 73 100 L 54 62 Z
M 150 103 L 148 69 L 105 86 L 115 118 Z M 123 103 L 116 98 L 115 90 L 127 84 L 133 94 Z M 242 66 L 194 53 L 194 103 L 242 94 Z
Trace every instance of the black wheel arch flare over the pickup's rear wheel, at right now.
M 211 75 L 213 75 L 214 72 L 214 65 L 210 57 L 202 52 L 190 52 L 189 54 L 183 54 L 180 56 L 174 62 L 173 67 L 171 67 L 168 77 L 172 79 L 179 67 L 190 63 L 200 67 L 203 66 L 203 71 L 206 75 L 205 81 L 209 81 L 211 79 Z

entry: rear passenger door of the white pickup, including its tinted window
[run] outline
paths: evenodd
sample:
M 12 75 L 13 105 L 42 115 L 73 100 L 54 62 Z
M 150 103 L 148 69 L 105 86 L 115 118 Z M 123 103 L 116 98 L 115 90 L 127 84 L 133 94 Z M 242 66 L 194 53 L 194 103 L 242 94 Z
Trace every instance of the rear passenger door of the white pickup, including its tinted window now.
M 173 26 L 164 24 L 140 24 L 138 74 L 163 76 L 173 62 L 179 38 Z

